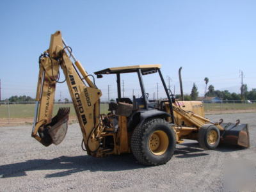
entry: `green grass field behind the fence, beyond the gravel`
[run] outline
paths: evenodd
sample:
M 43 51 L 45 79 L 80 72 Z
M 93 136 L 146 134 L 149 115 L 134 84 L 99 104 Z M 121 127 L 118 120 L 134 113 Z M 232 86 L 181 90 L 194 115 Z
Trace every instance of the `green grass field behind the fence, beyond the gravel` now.
M 54 104 L 53 115 L 59 108 L 70 108 L 70 116 L 76 116 L 73 104 Z M 256 103 L 253 104 L 204 104 L 205 111 L 228 111 L 228 110 L 248 110 L 256 109 Z M 10 118 L 31 118 L 34 116 L 35 104 L 10 104 Z M 108 104 L 100 104 L 100 113 L 108 113 Z M 0 118 L 8 118 L 8 105 L 1 104 Z

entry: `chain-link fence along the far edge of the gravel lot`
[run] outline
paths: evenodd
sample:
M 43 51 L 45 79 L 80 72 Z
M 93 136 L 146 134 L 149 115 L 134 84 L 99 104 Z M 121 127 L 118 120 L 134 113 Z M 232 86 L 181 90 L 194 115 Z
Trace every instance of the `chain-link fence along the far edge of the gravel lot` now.
M 256 109 L 256 100 L 202 100 L 206 113 L 224 113 L 232 111 L 252 111 Z M 19 124 L 33 121 L 35 102 L 0 102 L 0 125 Z M 53 115 L 59 108 L 70 108 L 70 120 L 76 121 L 76 112 L 71 102 L 56 102 Z M 108 113 L 108 102 L 100 103 L 100 113 Z

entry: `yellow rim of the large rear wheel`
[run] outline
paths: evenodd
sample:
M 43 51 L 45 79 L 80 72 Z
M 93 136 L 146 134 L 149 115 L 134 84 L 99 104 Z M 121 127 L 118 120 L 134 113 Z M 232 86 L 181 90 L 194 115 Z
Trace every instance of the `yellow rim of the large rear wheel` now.
M 148 147 L 152 154 L 161 156 L 166 152 L 169 145 L 169 139 L 164 131 L 155 131 L 151 134 Z

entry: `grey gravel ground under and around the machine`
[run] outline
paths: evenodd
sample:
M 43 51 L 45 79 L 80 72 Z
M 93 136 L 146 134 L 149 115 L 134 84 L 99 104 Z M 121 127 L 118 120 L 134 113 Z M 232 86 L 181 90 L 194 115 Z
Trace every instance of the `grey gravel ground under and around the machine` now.
M 207 117 L 248 123 L 251 148 L 202 150 L 188 140 L 177 145 L 167 164 L 147 167 L 136 163 L 131 154 L 87 156 L 81 150 L 78 124 L 69 125 L 61 145 L 50 147 L 30 137 L 31 126 L 0 127 L 0 191 L 225 191 L 225 169 L 230 162 L 240 161 L 248 165 L 240 179 L 252 174 L 250 179 L 256 182 L 255 113 Z M 233 167 L 232 174 L 241 175 L 239 166 Z M 255 186 L 250 190 L 255 191 Z

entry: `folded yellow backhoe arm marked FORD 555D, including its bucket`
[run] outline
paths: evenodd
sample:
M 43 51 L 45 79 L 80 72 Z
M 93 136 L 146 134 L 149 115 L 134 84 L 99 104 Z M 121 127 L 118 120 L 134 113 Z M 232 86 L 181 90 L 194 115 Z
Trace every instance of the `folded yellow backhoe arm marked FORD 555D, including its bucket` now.
M 52 118 L 55 88 L 61 67 L 83 133 L 84 145 L 88 154 L 93 155 L 100 145 L 101 91 L 76 60 L 71 48 L 65 44 L 60 31 L 51 35 L 50 47 L 40 56 L 39 63 L 32 136 L 45 146 L 51 143 L 58 145 L 65 137 L 69 109 L 60 108 Z

